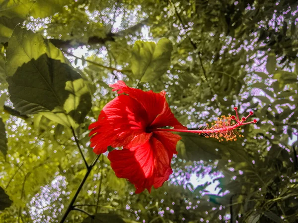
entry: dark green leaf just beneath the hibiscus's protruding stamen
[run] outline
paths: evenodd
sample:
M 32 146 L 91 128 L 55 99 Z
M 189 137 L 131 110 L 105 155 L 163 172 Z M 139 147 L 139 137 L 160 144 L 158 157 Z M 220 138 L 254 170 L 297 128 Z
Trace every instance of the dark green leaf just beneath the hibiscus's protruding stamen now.
M 215 150 L 215 140 L 207 139 L 193 133 L 180 133 L 182 139 L 177 144 L 178 157 L 186 161 L 217 160 L 221 159 Z

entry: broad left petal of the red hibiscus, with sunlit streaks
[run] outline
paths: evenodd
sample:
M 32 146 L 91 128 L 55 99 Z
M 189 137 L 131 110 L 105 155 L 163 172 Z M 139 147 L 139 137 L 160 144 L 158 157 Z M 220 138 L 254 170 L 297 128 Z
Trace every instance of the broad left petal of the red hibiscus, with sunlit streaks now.
M 90 124 L 91 147 L 96 154 L 112 147 L 135 147 L 144 144 L 152 135 L 146 133 L 147 113 L 134 99 L 120 95 L 100 112 L 98 121 Z

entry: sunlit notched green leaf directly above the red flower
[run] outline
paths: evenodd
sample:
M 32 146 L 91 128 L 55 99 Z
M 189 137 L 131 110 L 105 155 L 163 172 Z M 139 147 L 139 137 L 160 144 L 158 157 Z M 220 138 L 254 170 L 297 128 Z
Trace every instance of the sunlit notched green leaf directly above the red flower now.
M 141 82 L 159 78 L 171 62 L 172 43 L 162 38 L 157 45 L 153 42 L 137 41 L 133 48 L 132 72 Z

